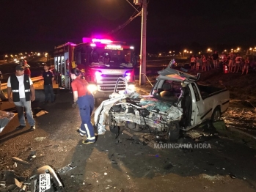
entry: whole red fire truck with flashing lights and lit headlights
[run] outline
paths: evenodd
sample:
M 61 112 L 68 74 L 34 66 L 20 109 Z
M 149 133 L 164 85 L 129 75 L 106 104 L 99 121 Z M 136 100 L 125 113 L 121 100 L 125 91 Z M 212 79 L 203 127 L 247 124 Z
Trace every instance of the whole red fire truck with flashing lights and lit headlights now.
M 55 70 L 60 87 L 70 89 L 70 70 L 78 67 L 95 98 L 109 97 L 117 78 L 135 79 L 134 47 L 124 42 L 83 38 L 83 43 L 65 43 L 54 48 Z

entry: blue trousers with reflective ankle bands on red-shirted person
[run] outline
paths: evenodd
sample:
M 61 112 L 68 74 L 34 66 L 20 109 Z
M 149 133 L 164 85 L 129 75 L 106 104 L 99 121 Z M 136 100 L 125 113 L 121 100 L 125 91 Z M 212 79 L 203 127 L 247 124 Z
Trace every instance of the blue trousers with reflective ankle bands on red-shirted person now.
M 94 109 L 94 97 L 92 95 L 78 97 L 77 103 L 81 117 L 79 133 L 81 136 L 87 135 L 87 141 L 95 142 L 95 133 L 91 122 L 91 115 Z

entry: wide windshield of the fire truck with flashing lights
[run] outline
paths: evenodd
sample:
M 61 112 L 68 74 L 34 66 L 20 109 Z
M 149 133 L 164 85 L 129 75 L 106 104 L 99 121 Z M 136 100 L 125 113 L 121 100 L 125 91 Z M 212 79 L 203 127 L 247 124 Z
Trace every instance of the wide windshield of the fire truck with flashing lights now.
M 91 48 L 89 51 L 89 65 L 93 67 L 131 68 L 134 67 L 131 54 L 131 50 Z

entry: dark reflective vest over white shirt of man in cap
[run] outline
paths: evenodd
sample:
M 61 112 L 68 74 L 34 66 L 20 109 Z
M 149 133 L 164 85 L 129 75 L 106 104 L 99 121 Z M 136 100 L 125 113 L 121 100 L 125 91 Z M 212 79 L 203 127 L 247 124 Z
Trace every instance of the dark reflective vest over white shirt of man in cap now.
M 12 87 L 12 100 L 14 102 L 20 101 L 20 92 L 19 92 L 19 81 L 15 74 L 10 76 L 10 83 Z M 24 88 L 25 88 L 25 97 L 26 101 L 31 100 L 30 94 L 30 83 L 29 83 L 29 75 L 24 75 Z

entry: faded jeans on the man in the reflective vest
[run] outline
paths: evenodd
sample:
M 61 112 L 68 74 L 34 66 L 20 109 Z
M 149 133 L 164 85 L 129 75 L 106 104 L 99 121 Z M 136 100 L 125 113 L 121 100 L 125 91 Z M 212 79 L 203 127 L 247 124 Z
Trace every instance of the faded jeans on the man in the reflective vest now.
M 18 121 L 20 122 L 20 125 L 26 126 L 26 121 L 24 117 L 24 108 L 26 111 L 26 118 L 28 119 L 29 125 L 34 126 L 34 119 L 33 114 L 31 110 L 31 101 L 26 101 L 26 98 L 20 98 L 20 101 L 13 102 L 17 108 L 18 111 Z

